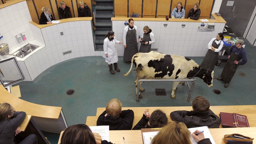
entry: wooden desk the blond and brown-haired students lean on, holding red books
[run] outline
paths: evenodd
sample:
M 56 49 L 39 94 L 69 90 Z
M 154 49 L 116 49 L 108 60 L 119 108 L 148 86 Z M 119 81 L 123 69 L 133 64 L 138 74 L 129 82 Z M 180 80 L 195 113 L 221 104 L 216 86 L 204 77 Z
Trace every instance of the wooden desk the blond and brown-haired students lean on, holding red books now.
M 123 107 L 122 110 L 125 109 L 132 109 L 134 112 L 134 120 L 133 120 L 133 127 L 136 125 L 139 120 L 141 119 L 143 112 L 145 109 L 149 109 L 149 112 L 153 112 L 156 109 L 161 109 L 165 112 L 168 121 L 171 121 L 170 113 L 173 111 L 179 111 L 179 110 L 186 110 L 191 111 L 192 106 L 188 107 Z M 250 127 L 256 127 L 256 105 L 220 105 L 220 106 L 210 106 L 210 109 L 219 116 L 220 112 L 228 112 L 228 113 L 239 113 L 241 115 L 246 115 L 247 119 L 249 121 Z M 99 115 L 105 111 L 105 108 L 97 108 L 96 117 L 99 117 Z M 97 121 L 97 119 L 96 119 Z M 96 125 L 96 121 L 94 122 L 91 120 L 92 124 L 90 126 Z

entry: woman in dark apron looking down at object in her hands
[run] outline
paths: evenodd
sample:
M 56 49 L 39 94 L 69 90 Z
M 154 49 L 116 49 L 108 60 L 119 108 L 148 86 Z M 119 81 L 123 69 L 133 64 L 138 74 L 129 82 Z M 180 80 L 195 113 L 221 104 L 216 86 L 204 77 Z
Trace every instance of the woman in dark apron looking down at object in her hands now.
M 155 43 L 155 35 L 148 26 L 143 28 L 143 32 L 143 35 L 139 38 L 141 43 L 139 52 L 150 52 L 151 44 Z

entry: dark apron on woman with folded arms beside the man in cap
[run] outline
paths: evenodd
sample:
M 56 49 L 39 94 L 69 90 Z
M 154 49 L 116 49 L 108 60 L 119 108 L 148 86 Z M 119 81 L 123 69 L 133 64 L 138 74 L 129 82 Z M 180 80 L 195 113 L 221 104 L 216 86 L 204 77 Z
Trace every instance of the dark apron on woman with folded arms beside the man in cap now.
M 212 46 L 214 48 L 218 48 L 220 46 L 220 43 L 216 44 L 215 40 L 214 40 L 212 42 Z M 209 69 L 209 70 L 213 71 L 216 61 L 218 59 L 218 55 L 219 55 L 218 52 L 214 52 L 214 51 L 208 49 L 208 51 L 204 57 L 204 60 L 202 61 L 200 66 L 203 67 L 204 69 Z

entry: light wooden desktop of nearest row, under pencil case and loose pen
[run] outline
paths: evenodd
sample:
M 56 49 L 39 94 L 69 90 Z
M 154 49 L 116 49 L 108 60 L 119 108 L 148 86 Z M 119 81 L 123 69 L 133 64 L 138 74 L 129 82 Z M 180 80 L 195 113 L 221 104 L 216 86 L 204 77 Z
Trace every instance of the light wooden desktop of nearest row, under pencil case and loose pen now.
M 239 133 L 241 135 L 256 138 L 256 127 L 250 128 L 210 128 L 216 144 L 225 144 L 223 137 L 226 134 Z M 109 131 L 109 141 L 116 144 L 143 144 L 140 130 Z

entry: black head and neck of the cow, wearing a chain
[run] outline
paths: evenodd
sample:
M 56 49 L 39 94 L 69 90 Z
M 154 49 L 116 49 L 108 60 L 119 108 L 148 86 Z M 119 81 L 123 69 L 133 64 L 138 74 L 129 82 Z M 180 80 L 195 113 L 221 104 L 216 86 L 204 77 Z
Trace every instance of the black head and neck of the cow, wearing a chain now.
M 206 70 L 202 67 L 194 67 L 193 70 L 189 71 L 187 77 L 200 77 L 208 87 L 212 87 L 213 85 L 213 73 L 214 71 Z

